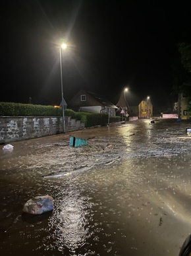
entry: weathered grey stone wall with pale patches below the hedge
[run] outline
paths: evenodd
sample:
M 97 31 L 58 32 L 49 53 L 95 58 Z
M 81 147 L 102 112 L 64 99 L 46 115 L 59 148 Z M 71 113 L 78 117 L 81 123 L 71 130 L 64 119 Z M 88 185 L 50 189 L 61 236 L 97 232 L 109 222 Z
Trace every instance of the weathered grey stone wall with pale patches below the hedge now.
M 79 120 L 65 116 L 65 131 L 85 128 Z M 63 118 L 58 116 L 3 116 L 0 117 L 0 144 L 18 140 L 61 134 Z

